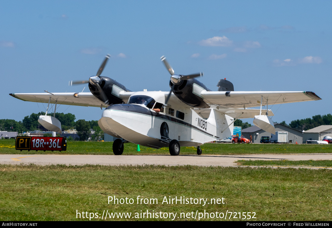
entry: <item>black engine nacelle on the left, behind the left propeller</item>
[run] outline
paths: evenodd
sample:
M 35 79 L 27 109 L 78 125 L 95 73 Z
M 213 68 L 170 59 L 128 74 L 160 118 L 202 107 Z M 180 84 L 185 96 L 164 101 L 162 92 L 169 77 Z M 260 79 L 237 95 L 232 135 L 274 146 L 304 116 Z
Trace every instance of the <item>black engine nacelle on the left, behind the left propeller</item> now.
M 100 76 L 100 79 L 101 79 L 99 83 L 100 88 L 104 91 L 105 95 L 107 96 L 108 104 L 124 103 L 124 101 L 119 96 L 119 92 L 120 91 L 130 92 L 130 90 L 127 90 L 124 87 L 124 85 L 120 84 L 119 82 L 111 78 Z M 100 91 L 100 89 L 97 86 L 89 83 L 89 89 L 95 97 L 97 97 L 99 100 L 101 100 L 104 103 L 106 102 L 103 101 L 102 91 Z

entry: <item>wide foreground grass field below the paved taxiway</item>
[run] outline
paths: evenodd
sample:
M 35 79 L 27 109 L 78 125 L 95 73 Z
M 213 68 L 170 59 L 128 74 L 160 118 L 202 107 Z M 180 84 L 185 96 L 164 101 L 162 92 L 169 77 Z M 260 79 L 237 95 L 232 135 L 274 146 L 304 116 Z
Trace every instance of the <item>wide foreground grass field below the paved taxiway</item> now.
M 88 215 L 90 212 L 102 215 L 104 210 L 131 213 L 154 210 L 177 212 L 177 216 L 192 211 L 195 216 L 196 210 L 208 213 L 228 210 L 256 212 L 256 219 L 251 221 L 330 221 L 331 182 L 332 171 L 327 169 L 0 165 L 0 220 L 89 220 L 77 219 L 76 210 Z M 158 204 L 137 204 L 138 195 L 157 198 Z M 133 198 L 134 203 L 108 204 L 108 196 Z M 208 202 L 223 197 L 225 204 L 162 204 L 165 196 L 207 198 Z M 230 220 L 241 220 L 233 216 Z M 228 217 L 229 214 L 226 220 Z

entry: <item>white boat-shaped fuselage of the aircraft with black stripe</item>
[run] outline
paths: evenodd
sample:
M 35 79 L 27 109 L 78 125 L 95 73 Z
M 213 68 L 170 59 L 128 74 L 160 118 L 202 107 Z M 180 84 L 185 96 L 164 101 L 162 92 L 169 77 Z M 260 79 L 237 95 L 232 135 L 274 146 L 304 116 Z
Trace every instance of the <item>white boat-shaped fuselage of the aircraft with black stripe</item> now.
M 197 147 L 221 137 L 214 116 L 205 119 L 180 102 L 165 105 L 165 92 L 131 95 L 134 98 L 139 96 L 151 97 L 155 104 L 147 105 L 148 108 L 144 104 L 133 104 L 129 98 L 128 104 L 111 105 L 103 111 L 98 121 L 100 127 L 112 136 L 152 148 L 168 147 L 172 139 L 178 140 L 181 146 Z M 156 109 L 158 105 L 160 112 Z M 229 124 L 232 119 L 227 120 Z M 225 132 L 227 136 L 231 133 Z

